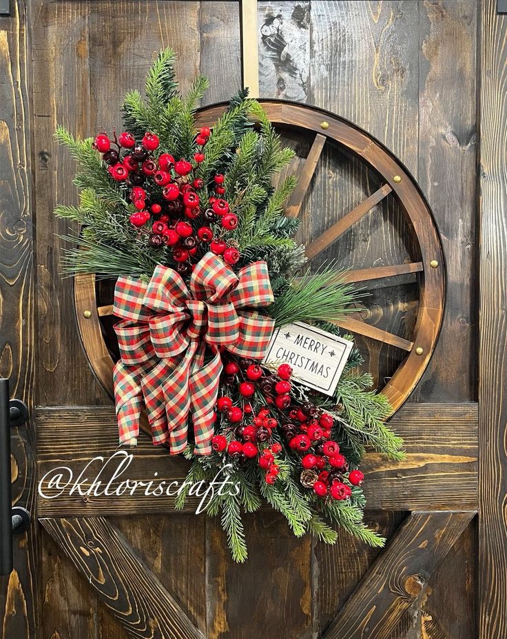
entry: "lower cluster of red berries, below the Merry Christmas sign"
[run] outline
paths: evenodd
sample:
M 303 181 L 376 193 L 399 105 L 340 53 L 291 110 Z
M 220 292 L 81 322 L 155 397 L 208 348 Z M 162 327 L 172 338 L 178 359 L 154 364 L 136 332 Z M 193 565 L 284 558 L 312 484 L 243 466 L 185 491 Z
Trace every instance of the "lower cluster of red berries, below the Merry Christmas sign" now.
M 230 397 L 218 398 L 216 408 L 225 414 L 233 434 L 227 443 L 225 435 L 216 435 L 212 446 L 217 452 L 226 452 L 232 458 L 256 458 L 266 471 L 267 483 L 274 483 L 278 474 L 275 455 L 282 446 L 273 442 L 273 430 L 284 434 L 289 449 L 297 454 L 303 471 L 313 471 L 311 488 L 319 497 L 336 500 L 348 499 L 351 485 L 360 485 L 364 478 L 360 470 L 349 472 L 349 463 L 340 453 L 340 446 L 331 439 L 334 418 L 311 402 L 298 403 L 291 396 L 292 369 L 289 364 L 278 367 L 273 375 L 249 360 L 229 361 L 225 364 L 225 385 L 240 376 L 240 396 L 249 400 L 260 392 L 266 405 L 257 413 L 249 401 L 243 407 L 234 406 Z M 276 414 L 278 413 L 278 418 Z

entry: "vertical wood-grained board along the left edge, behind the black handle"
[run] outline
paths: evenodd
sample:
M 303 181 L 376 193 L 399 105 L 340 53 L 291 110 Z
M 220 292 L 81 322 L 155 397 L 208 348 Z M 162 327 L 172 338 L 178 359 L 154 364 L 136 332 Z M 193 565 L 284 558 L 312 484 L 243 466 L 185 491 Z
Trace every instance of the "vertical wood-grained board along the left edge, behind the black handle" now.
M 12 501 L 35 514 L 34 272 L 30 151 L 30 48 L 25 3 L 0 17 L 0 377 L 30 407 L 12 429 Z M 2 541 L 3 542 L 3 541 Z M 38 625 L 37 523 L 14 537 L 14 570 L 0 578 L 0 636 L 33 638 Z

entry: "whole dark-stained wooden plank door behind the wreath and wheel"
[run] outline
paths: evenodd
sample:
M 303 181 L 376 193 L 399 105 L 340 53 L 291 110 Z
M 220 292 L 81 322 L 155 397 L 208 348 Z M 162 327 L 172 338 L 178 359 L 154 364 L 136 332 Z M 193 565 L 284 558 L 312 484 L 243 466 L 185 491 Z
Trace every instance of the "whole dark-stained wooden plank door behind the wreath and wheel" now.
M 400 158 L 433 208 L 448 287 L 433 359 L 393 418 L 406 461 L 367 461 L 368 518 L 388 537 L 386 549 L 346 535 L 335 547 L 296 540 L 284 521 L 263 512 L 247 520 L 249 561 L 234 565 L 213 520 L 146 498 L 47 500 L 37 496 L 37 481 L 52 467 L 79 471 L 116 448 L 114 407 L 81 349 L 72 282 L 59 276 L 55 234 L 66 229 L 52 210 L 75 192 L 72 163 L 52 138 L 56 124 L 81 136 L 112 128 L 125 90 L 141 85 L 153 53 L 166 45 L 178 51 L 184 87 L 201 72 L 211 80 L 206 103 L 227 99 L 242 78 L 242 7 L 234 0 L 12 0 L 10 17 L 0 18 L 0 374 L 31 409 L 29 427 L 13 437 L 12 481 L 34 523 L 17 538 L 15 570 L 1 582 L 5 639 L 504 639 L 505 331 L 495 317 L 506 294 L 506 181 L 495 140 L 507 121 L 497 100 L 505 92 L 507 18 L 495 5 L 280 0 L 254 7 L 260 96 L 345 116 Z M 273 19 L 278 38 L 269 39 L 261 27 Z M 306 202 L 307 234 L 334 221 L 340 202 L 353 197 L 324 153 Z M 369 222 L 354 232 L 369 236 Z M 389 237 L 376 248 L 383 258 Z M 389 291 L 378 297 L 402 303 Z M 136 472 L 163 467 L 163 455 L 142 442 Z M 180 472 L 171 460 L 167 473 Z

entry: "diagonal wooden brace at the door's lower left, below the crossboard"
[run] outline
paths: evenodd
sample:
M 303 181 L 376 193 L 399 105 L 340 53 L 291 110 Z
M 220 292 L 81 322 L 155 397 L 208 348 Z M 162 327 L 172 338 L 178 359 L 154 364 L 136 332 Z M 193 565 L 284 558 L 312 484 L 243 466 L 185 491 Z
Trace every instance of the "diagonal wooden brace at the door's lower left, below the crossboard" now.
M 39 521 L 133 637 L 203 639 L 176 600 L 105 518 Z

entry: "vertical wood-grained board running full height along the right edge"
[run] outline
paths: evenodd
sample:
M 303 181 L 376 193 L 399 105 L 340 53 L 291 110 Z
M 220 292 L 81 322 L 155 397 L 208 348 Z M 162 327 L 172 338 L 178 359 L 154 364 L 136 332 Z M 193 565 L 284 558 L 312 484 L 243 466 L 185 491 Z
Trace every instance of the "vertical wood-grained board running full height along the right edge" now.
M 482 3 L 479 638 L 507 636 L 507 17 Z

